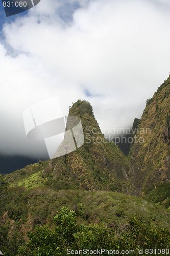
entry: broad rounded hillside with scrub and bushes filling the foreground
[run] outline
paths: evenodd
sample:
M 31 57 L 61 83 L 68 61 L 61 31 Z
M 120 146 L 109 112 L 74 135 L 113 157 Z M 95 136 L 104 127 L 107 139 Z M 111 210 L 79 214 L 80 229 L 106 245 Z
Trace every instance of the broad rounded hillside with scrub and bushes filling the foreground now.
M 160 205 L 111 191 L 56 191 L 42 186 L 28 189 L 22 186 L 8 187 L 3 177 L 1 181 L 4 189 L 0 200 L 0 248 L 9 256 L 17 255 L 19 251 L 20 256 L 65 256 L 66 248 L 86 246 L 90 249 L 96 245 L 105 245 L 106 248 L 114 245 L 117 249 L 147 248 L 147 245 L 153 246 L 155 241 L 156 248 L 164 243 L 166 248 L 169 247 L 170 212 Z M 71 244 L 62 238 L 64 233 L 61 236 L 60 229 L 56 230 L 54 217 L 62 206 L 75 211 L 77 225 L 85 225 L 74 230 L 65 227 L 73 236 L 72 239 L 76 239 Z M 63 218 L 69 221 L 68 214 Z M 58 222 L 60 228 L 62 223 L 61 220 Z M 108 238 L 102 233 L 107 233 Z M 62 240 L 58 241 L 59 237 Z M 103 240 L 104 237 L 106 240 Z

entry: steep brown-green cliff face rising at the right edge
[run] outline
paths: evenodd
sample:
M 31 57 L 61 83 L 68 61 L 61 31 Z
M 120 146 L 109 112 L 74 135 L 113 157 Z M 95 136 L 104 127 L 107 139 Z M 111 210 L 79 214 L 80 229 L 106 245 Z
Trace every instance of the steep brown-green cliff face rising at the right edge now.
M 129 157 L 133 194 L 170 181 L 170 76 L 147 100 Z

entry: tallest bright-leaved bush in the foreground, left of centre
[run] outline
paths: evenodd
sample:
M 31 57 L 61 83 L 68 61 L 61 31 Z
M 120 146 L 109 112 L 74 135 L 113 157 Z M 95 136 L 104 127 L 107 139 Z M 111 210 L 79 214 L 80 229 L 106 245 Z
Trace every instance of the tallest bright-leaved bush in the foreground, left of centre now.
M 29 242 L 19 248 L 19 255 L 66 255 L 66 248 L 74 241 L 77 232 L 76 213 L 62 206 L 54 217 L 54 230 L 36 227 L 28 233 Z

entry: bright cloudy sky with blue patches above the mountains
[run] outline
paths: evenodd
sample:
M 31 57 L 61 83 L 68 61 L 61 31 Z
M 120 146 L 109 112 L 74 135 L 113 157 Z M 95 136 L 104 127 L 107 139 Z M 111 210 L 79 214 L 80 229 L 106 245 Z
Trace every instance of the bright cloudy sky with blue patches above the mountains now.
M 23 112 L 58 97 L 63 115 L 88 100 L 107 137 L 140 118 L 170 71 L 170 2 L 41 0 L 5 17 L 0 8 L 0 154 L 41 158 Z

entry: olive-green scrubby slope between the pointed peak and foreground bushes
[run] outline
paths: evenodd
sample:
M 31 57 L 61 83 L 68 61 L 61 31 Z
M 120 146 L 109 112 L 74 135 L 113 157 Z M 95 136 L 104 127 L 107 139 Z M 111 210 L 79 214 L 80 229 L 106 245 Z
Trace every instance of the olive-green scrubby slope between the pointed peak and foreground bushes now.
M 0 247 L 9 256 L 18 255 L 19 246 L 28 242 L 27 231 L 37 225 L 53 228 L 53 218 L 62 205 L 76 210 L 79 224 L 103 222 L 120 236 L 128 231 L 133 218 L 145 225 L 151 223 L 152 229 L 170 228 L 169 212 L 162 206 L 115 192 L 14 187 L 8 188 L 4 198 L 0 197 Z

